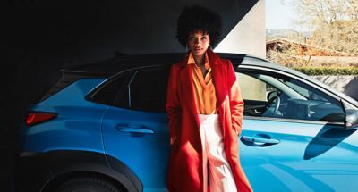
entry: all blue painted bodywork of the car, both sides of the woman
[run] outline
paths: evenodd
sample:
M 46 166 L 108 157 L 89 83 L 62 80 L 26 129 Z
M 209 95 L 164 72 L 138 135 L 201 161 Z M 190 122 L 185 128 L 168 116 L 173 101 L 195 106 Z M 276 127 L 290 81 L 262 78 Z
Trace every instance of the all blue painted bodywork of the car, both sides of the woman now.
M 55 120 L 24 127 L 23 151 L 83 150 L 126 164 L 144 191 L 166 191 L 169 156 L 165 113 L 96 104 L 86 96 L 104 79 L 81 79 L 30 111 L 58 113 Z M 271 146 L 240 143 L 241 163 L 255 191 L 355 191 L 355 130 L 322 122 L 244 118 L 243 137 L 277 139 Z M 339 170 L 337 170 L 339 168 Z

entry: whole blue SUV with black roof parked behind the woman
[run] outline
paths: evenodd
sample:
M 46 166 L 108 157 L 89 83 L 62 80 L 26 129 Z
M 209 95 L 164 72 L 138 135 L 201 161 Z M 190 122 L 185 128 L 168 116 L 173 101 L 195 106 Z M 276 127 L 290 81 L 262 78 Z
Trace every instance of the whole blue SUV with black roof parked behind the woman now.
M 166 85 L 183 54 L 117 56 L 62 70 L 21 129 L 20 191 L 166 191 Z M 356 191 L 358 102 L 244 54 L 240 153 L 255 191 Z

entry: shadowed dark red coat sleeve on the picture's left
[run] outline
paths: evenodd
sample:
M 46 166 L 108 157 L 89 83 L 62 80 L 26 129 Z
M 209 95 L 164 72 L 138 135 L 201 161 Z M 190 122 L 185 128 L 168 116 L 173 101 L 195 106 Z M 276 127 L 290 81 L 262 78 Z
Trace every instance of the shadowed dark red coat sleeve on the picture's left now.
M 180 129 L 180 122 L 182 119 L 182 109 L 178 96 L 178 73 L 178 67 L 174 64 L 169 73 L 169 80 L 166 89 L 166 113 L 169 119 L 168 127 L 171 142 L 177 138 L 178 131 Z

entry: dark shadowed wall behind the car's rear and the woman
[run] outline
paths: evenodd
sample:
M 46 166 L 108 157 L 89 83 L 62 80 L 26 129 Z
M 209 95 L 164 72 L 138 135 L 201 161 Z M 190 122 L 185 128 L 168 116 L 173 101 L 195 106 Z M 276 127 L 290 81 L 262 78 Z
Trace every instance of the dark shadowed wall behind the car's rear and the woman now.
M 13 188 L 16 134 L 26 109 L 60 78 L 58 69 L 104 60 L 115 52 L 183 52 L 175 39 L 175 26 L 184 5 L 201 4 L 217 10 L 227 34 L 256 3 L 257 0 L 1 1 L 0 149 L 4 158 L 0 170 L 5 172 L 0 172 L 0 190 Z

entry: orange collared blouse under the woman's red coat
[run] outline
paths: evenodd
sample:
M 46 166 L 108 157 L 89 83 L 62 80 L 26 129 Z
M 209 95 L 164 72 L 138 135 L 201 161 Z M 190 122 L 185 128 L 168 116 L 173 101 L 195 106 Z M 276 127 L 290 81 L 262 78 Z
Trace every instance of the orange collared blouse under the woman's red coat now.
M 208 54 L 205 55 L 205 69 L 209 70 L 205 78 L 196 65 L 192 53 L 189 54 L 188 64 L 192 65 L 192 79 L 194 88 L 194 100 L 198 114 L 217 114 L 217 96 L 211 77 L 211 67 L 209 64 Z

